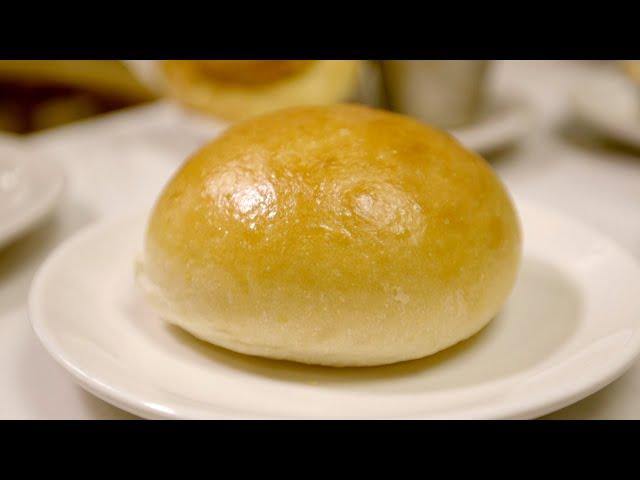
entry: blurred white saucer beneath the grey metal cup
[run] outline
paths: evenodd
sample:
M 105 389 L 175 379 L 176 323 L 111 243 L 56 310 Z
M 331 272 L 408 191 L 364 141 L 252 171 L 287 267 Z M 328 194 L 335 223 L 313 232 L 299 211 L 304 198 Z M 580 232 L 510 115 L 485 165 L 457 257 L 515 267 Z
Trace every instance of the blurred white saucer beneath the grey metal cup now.
M 518 94 L 494 95 L 478 119 L 449 131 L 467 148 L 480 154 L 493 153 L 515 144 L 532 129 L 534 112 Z

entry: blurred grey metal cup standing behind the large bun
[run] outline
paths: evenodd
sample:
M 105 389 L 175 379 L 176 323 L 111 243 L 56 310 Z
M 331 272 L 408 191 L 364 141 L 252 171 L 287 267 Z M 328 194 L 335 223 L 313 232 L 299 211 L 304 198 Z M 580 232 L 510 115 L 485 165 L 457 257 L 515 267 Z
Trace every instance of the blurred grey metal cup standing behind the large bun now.
M 440 128 L 473 122 L 486 93 L 486 60 L 386 60 L 388 107 Z

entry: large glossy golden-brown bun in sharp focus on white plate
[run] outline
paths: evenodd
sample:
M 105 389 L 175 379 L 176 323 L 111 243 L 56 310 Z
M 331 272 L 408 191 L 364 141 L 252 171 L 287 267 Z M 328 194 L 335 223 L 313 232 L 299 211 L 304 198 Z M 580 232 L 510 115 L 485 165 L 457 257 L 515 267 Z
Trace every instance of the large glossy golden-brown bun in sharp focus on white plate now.
M 333 366 L 432 354 L 482 327 L 520 229 L 487 163 L 366 107 L 231 127 L 158 199 L 139 266 L 160 315 L 242 353 Z

